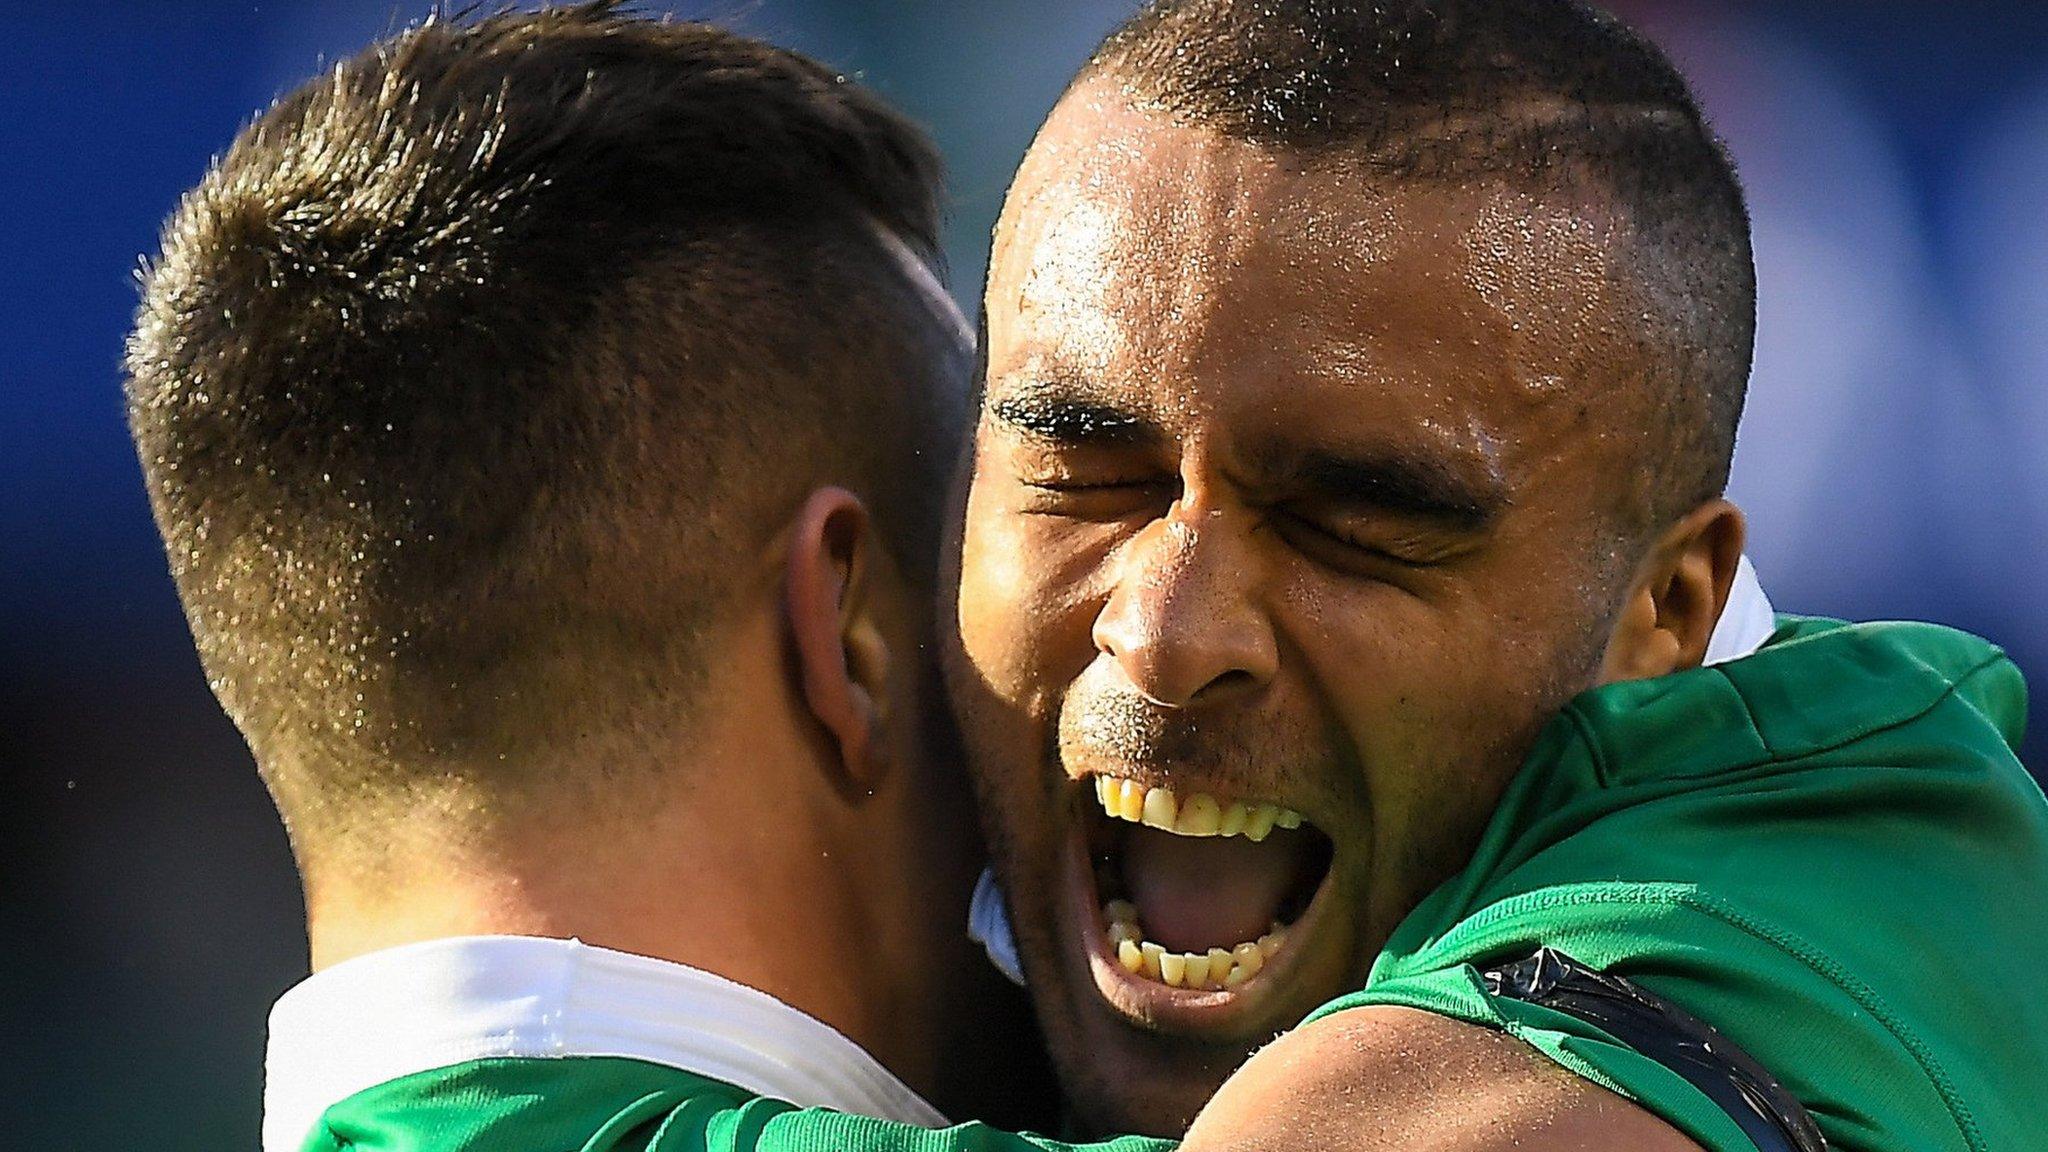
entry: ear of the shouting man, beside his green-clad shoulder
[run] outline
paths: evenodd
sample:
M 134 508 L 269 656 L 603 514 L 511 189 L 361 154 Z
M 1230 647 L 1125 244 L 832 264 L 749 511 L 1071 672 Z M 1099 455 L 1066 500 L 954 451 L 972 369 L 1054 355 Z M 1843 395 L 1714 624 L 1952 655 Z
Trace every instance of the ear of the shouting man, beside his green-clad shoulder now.
M 1706 660 L 1747 531 L 1741 508 L 1716 498 L 1651 545 L 1608 637 L 1599 683 L 1647 681 Z

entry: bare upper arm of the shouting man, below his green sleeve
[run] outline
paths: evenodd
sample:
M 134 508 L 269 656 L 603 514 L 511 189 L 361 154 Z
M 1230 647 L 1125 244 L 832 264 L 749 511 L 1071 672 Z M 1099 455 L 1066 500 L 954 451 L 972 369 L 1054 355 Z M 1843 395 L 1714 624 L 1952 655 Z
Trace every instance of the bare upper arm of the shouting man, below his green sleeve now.
M 1397 1006 L 1348 1009 L 1266 1045 L 1184 1152 L 1700 1152 L 1634 1103 L 1505 1033 Z

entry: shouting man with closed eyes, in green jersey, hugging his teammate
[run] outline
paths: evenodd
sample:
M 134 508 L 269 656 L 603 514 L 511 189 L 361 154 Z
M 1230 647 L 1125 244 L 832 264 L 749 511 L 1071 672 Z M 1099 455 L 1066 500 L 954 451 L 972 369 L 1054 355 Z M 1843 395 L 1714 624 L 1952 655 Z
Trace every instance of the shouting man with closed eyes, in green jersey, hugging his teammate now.
M 1686 84 L 1579 4 L 1163 0 L 1069 86 L 948 678 L 1087 1121 L 2048 1148 L 2015 668 L 1792 617 L 1702 666 L 1753 303 Z

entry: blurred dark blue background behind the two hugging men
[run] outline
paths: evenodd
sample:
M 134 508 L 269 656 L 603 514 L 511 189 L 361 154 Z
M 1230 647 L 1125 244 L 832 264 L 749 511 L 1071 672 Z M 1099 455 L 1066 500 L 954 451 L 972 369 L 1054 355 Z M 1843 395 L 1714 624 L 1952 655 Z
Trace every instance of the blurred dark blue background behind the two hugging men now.
M 1133 0 L 684 6 L 811 51 L 952 164 L 954 291 Z M 254 1146 L 305 970 L 285 838 L 207 695 L 121 420 L 137 256 L 236 127 L 424 4 L 10 6 L 0 35 L 0 1144 Z M 1624 2 L 1751 189 L 1735 496 L 1782 609 L 2048 674 L 2048 4 Z M 2030 763 L 2048 769 L 2038 709 Z

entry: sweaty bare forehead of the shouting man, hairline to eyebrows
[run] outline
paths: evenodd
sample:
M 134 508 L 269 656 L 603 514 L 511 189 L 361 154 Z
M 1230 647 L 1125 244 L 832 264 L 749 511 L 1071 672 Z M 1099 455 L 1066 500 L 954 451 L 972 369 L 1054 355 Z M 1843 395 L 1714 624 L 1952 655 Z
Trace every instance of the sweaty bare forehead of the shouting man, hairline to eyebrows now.
M 1212 428 L 1239 451 L 1298 420 L 1346 451 L 1448 437 L 1464 459 L 1499 449 L 1509 488 L 1577 455 L 1622 525 L 1645 521 L 1655 373 L 1608 217 L 1366 182 L 1090 96 L 1069 94 L 1012 191 L 991 400 L 1087 381 L 1161 426 L 1235 412 Z

